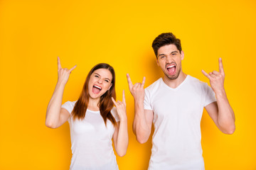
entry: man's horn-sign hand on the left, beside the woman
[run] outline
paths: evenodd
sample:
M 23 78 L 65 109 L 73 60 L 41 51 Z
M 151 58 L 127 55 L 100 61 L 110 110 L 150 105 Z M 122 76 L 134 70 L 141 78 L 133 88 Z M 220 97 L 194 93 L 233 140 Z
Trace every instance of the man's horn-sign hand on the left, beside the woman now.
M 142 84 L 136 83 L 132 84 L 132 80 L 127 74 L 127 81 L 129 85 L 129 91 L 131 92 L 132 96 L 134 97 L 134 101 L 144 101 L 144 84 L 146 81 L 146 77 L 143 77 Z

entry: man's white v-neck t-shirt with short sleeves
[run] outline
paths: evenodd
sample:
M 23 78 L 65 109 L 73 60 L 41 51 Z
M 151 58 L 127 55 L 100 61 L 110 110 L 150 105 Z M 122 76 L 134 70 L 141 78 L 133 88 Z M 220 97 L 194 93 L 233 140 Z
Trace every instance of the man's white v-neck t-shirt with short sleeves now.
M 187 75 L 176 88 L 158 79 L 145 89 L 144 109 L 154 112 L 149 170 L 203 170 L 201 117 L 216 101 L 208 84 Z

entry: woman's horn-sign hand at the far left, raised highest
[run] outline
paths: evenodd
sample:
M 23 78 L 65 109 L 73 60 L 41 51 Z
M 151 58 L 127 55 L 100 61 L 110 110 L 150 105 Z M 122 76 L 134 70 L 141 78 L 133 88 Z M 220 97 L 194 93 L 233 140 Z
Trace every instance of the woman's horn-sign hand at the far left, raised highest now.
M 58 83 L 67 84 L 70 73 L 75 69 L 77 65 L 72 67 L 71 69 L 62 68 L 60 65 L 60 58 L 58 57 Z

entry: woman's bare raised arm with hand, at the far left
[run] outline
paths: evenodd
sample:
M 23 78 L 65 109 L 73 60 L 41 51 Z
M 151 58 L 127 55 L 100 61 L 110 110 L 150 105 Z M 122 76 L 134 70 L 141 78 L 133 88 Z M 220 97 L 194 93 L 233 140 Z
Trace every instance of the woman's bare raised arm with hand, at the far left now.
M 71 69 L 62 68 L 60 58 L 58 57 L 58 82 L 55 86 L 53 96 L 50 98 L 46 111 L 46 126 L 48 128 L 58 128 L 68 120 L 70 113 L 65 108 L 61 108 L 63 99 L 63 91 L 68 78 L 76 65 Z

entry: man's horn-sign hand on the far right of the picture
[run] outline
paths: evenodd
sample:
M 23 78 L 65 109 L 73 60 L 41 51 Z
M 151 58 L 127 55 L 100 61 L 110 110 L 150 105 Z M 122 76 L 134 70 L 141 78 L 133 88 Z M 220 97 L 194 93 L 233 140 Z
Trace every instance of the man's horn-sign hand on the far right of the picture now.
M 210 80 L 210 86 L 215 92 L 215 94 L 224 90 L 225 73 L 224 73 L 223 63 L 221 58 L 219 58 L 219 72 L 213 71 L 207 74 L 202 69 L 202 73 Z

